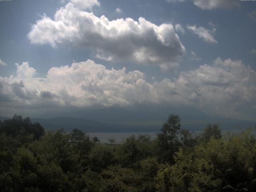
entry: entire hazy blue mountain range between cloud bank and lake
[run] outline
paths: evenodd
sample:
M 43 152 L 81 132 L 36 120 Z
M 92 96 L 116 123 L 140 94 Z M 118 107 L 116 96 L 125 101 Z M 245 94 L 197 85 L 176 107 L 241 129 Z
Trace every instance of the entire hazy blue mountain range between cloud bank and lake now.
M 110 107 L 81 111 L 79 114 L 69 112 L 73 117 L 31 118 L 39 122 L 45 130 L 64 128 L 71 131 L 74 128 L 85 132 L 159 132 L 162 124 L 170 114 L 178 114 L 181 118 L 181 128 L 190 131 L 203 130 L 207 124 L 218 123 L 222 130 L 246 129 L 255 126 L 254 121 L 238 120 L 210 116 L 192 107 L 174 107 L 169 105 L 138 105 L 135 107 Z M 4 121 L 10 119 L 1 117 Z

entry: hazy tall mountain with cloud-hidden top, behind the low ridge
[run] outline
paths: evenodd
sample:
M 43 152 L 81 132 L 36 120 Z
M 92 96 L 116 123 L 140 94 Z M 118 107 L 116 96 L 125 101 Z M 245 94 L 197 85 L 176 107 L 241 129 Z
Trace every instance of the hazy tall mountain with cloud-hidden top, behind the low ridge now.
M 168 104 L 140 104 L 137 106 L 108 107 L 84 110 L 80 118 L 99 122 L 118 121 L 166 121 L 170 114 L 178 114 L 184 120 L 208 120 L 212 116 L 193 107 L 170 106 Z

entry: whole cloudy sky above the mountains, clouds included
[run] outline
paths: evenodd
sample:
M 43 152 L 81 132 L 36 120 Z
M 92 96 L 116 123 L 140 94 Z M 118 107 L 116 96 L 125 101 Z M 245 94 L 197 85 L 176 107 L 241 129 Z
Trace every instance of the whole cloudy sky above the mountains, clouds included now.
M 256 119 L 256 1 L 8 0 L 0 26 L 0 116 Z

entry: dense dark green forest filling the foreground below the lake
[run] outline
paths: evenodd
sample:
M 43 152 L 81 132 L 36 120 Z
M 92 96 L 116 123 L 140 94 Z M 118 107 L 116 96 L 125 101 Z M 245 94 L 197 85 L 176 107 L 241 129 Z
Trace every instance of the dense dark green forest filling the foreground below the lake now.
M 78 129 L 45 133 L 15 115 L 0 122 L 0 186 L 12 191 L 10 172 L 19 192 L 254 192 L 252 130 L 222 135 L 214 124 L 194 136 L 170 115 L 154 140 L 103 144 Z

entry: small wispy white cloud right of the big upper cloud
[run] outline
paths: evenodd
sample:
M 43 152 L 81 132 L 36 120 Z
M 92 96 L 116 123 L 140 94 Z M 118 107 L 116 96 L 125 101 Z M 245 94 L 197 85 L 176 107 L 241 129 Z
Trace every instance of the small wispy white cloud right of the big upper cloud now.
M 187 28 L 188 30 L 191 30 L 194 34 L 198 35 L 199 38 L 202 38 L 205 42 L 218 43 L 213 36 L 213 34 L 216 32 L 215 28 L 213 28 L 213 30 L 209 30 L 204 27 L 196 27 L 196 25 L 187 26 Z

